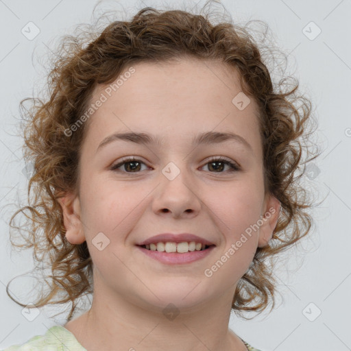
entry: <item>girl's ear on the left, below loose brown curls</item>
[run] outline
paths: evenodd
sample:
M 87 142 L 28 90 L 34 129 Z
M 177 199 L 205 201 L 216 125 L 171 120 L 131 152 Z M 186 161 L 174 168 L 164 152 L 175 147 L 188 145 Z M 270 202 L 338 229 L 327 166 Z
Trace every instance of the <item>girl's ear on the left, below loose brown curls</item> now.
M 66 228 L 66 239 L 71 244 L 84 243 L 85 236 L 80 220 L 80 198 L 73 193 L 66 193 L 58 199 L 62 207 L 64 228 Z

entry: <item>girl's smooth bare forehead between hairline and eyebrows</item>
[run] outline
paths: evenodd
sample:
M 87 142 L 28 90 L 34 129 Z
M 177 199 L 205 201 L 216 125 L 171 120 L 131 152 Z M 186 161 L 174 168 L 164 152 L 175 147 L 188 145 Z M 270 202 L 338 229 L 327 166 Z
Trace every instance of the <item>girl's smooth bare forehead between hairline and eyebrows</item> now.
M 182 59 L 132 68 L 132 74 L 121 72 L 119 84 L 115 80 L 95 88 L 91 101 L 106 98 L 89 120 L 88 134 L 97 143 L 114 131 L 186 141 L 199 132 L 231 130 L 249 142 L 257 139 L 256 102 L 251 98 L 243 110 L 233 104 L 241 93 L 239 73 L 223 62 Z

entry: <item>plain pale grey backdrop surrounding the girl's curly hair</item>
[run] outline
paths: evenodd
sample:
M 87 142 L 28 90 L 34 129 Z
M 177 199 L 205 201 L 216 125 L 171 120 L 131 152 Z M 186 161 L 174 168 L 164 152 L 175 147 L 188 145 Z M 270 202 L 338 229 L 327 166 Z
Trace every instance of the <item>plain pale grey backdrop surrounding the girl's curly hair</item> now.
M 204 1 L 164 1 L 191 9 Z M 219 3 L 219 1 L 217 1 Z M 313 101 L 318 121 L 317 140 L 322 154 L 305 176 L 308 189 L 318 199 L 315 224 L 299 250 L 285 254 L 277 267 L 277 307 L 251 320 L 232 315 L 230 328 L 262 351 L 351 350 L 350 291 L 351 217 L 351 2 L 348 0 L 240 0 L 221 1 L 234 23 L 265 21 L 276 44 L 288 55 L 289 67 L 300 90 Z M 133 14 L 160 1 L 102 1 L 101 10 L 117 9 Z M 32 322 L 5 291 L 14 276 L 33 267 L 32 253 L 11 250 L 8 219 L 13 207 L 25 204 L 27 177 L 16 133 L 21 121 L 19 101 L 44 88 L 42 56 L 55 48 L 56 39 L 70 34 L 77 23 L 90 23 L 96 0 L 0 1 L 0 348 L 24 343 L 41 335 L 62 319 L 49 319 L 61 311 L 53 306 L 40 310 Z M 220 8 L 220 5 L 218 6 Z M 32 25 L 34 39 L 23 28 Z M 36 29 L 38 28 L 38 29 Z M 29 37 L 28 37 L 29 36 Z M 32 40 L 30 40 L 32 39 Z M 28 302 L 34 288 L 28 278 L 14 280 L 11 289 Z M 66 306 L 67 307 L 67 306 Z M 56 308 L 56 309 L 55 309 Z M 61 317 L 62 318 L 62 317 Z

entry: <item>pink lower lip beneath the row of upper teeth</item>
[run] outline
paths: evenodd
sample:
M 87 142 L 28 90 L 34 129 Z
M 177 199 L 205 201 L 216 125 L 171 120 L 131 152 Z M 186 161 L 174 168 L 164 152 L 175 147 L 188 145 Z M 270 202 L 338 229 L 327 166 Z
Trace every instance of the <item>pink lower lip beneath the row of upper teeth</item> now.
M 147 250 L 144 247 L 138 246 L 138 248 L 144 252 L 147 256 L 154 258 L 157 261 L 160 261 L 162 263 L 166 263 L 168 265 L 180 265 L 183 263 L 191 263 L 194 261 L 198 261 L 201 258 L 204 258 L 212 252 L 212 250 L 215 248 L 215 246 L 210 246 L 206 250 L 200 250 L 200 251 L 191 251 L 191 252 L 186 252 L 184 254 L 180 254 L 178 252 L 159 252 L 159 251 L 152 251 L 152 250 Z

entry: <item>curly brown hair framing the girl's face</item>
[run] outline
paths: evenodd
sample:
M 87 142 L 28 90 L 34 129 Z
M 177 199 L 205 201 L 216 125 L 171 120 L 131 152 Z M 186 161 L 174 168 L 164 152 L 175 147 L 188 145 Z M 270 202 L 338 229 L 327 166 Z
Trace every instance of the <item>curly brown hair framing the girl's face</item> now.
M 269 302 L 273 302 L 273 308 L 276 280 L 271 272 L 273 265 L 269 266 L 266 258 L 302 239 L 313 223 L 307 211 L 313 205 L 308 202 L 300 178 L 306 162 L 318 155 L 307 157 L 311 150 L 306 141 L 314 132 L 308 132 L 307 127 L 312 125 L 313 115 L 311 101 L 298 95 L 298 81 L 289 76 L 274 86 L 263 63 L 264 49 L 271 50 L 273 46 L 259 49 L 248 25 L 234 25 L 232 21 L 215 25 L 210 22 L 210 14 L 143 8 L 132 21 L 113 21 L 102 33 L 97 34 L 95 28 L 90 34 L 90 38 L 64 36 L 48 77 L 49 98 L 27 98 L 20 104 L 23 108 L 25 101 L 33 101 L 23 112 L 28 117 L 23 128 L 23 149 L 25 160 L 34 171 L 29 178 L 28 206 L 16 210 L 10 220 L 11 228 L 28 232 L 22 236 L 25 245 L 14 243 L 11 235 L 10 241 L 14 246 L 33 247 L 36 269 L 39 263 L 48 264 L 52 273 L 45 277 L 50 279 L 49 291 L 41 291 L 34 305 L 71 302 L 67 317 L 70 320 L 77 301 L 93 293 L 93 262 L 86 241 L 74 245 L 66 240 L 58 202 L 66 191 L 78 191 L 77 165 L 88 123 L 70 136 L 65 131 L 87 110 L 97 84 L 112 83 L 131 64 L 192 57 L 221 60 L 237 69 L 243 92 L 259 107 L 265 191 L 280 201 L 281 212 L 269 245 L 257 248 L 252 265 L 239 280 L 232 310 L 243 317 L 245 311 L 261 313 Z M 289 78 L 293 79 L 292 88 L 285 91 L 285 86 L 291 86 Z M 302 160 L 304 149 L 306 159 Z M 12 226 L 19 213 L 24 213 L 29 223 Z M 6 291 L 12 298 L 8 286 Z M 58 300 L 53 301 L 55 297 Z

